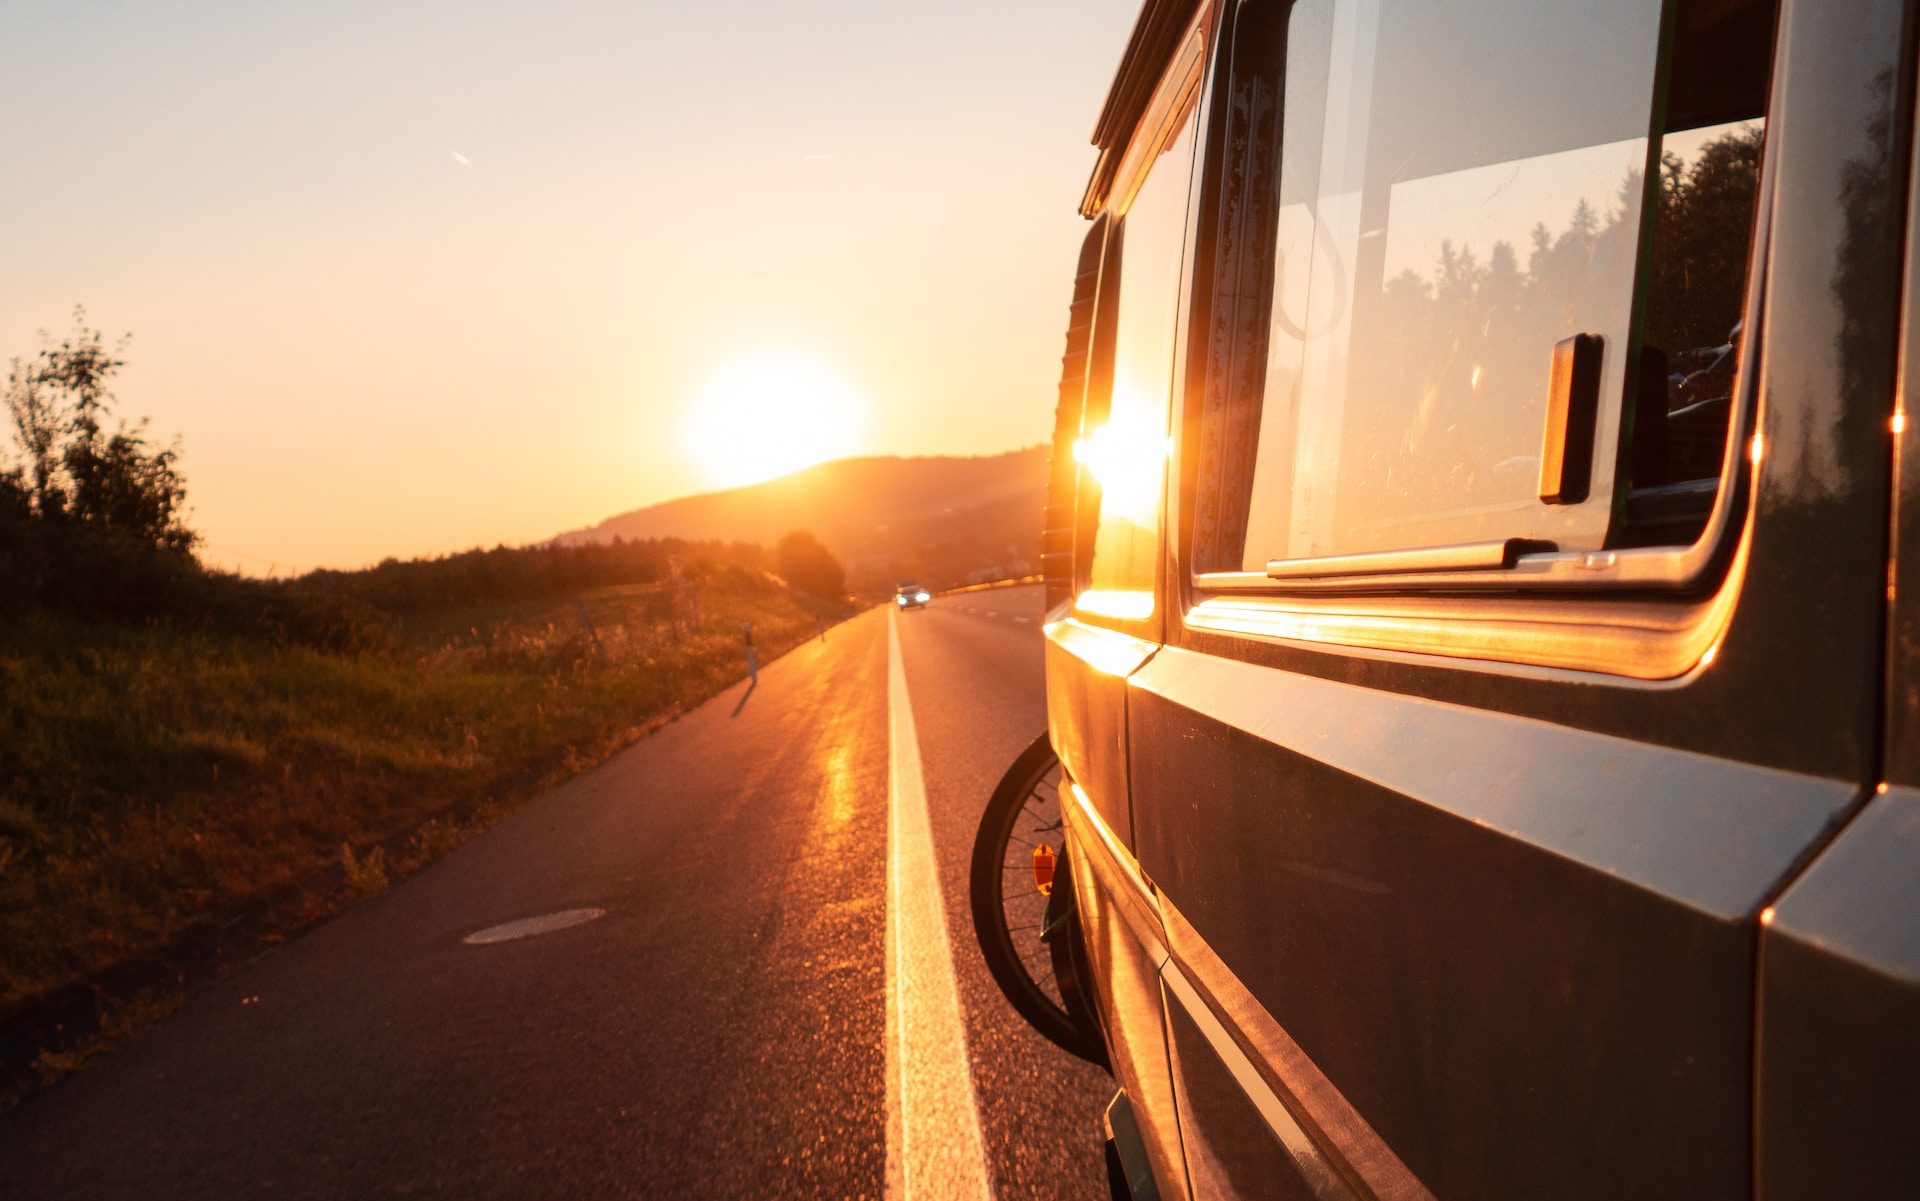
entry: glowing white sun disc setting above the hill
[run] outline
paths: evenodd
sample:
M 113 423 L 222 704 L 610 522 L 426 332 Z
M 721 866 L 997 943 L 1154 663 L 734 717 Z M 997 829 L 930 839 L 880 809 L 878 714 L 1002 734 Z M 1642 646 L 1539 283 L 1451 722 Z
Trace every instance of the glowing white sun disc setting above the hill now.
M 708 376 L 682 432 L 707 478 L 735 487 L 852 453 L 862 409 L 824 363 L 766 351 Z

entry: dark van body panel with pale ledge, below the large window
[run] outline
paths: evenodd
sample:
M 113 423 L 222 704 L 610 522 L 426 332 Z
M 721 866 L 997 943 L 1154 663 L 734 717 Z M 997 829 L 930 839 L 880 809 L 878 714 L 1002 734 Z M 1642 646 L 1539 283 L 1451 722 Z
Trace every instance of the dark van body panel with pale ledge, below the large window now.
M 1851 787 L 1175 648 L 1131 683 L 1142 869 L 1428 1189 L 1745 1191 L 1753 915 Z

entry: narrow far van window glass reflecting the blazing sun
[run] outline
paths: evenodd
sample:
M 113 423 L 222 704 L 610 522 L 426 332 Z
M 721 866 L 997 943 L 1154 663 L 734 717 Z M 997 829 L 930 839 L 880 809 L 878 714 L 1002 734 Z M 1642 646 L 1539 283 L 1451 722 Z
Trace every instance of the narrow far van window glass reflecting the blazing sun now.
M 1112 618 L 1154 608 L 1192 150 L 1188 104 L 1121 217 L 1112 395 L 1106 420 L 1075 447 L 1100 487 L 1091 587 L 1077 604 Z

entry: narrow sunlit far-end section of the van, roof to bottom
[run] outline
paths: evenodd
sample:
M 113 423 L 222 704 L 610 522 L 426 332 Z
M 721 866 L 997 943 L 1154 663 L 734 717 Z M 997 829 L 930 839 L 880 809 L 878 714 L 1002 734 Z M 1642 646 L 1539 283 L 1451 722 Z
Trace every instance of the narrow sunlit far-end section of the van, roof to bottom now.
M 1165 938 L 1133 852 L 1127 783 L 1127 675 L 1160 647 L 1162 493 L 1179 355 L 1179 315 L 1196 107 L 1210 13 L 1137 40 L 1123 65 L 1146 69 L 1150 98 L 1112 148 L 1106 232 L 1079 460 L 1075 587 L 1046 624 L 1046 716 L 1071 779 L 1062 796 L 1081 932 L 1092 959 L 1108 1059 L 1131 1097 L 1164 1182 L 1183 1176 L 1162 1032 Z

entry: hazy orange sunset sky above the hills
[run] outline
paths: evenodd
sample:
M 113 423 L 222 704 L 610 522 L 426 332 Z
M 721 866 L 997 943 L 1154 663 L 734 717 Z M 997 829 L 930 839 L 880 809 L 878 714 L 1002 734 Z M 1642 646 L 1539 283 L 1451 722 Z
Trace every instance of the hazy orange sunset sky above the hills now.
M 131 334 L 119 412 L 250 574 L 1033 445 L 1135 13 L 10 0 L 0 359 Z

